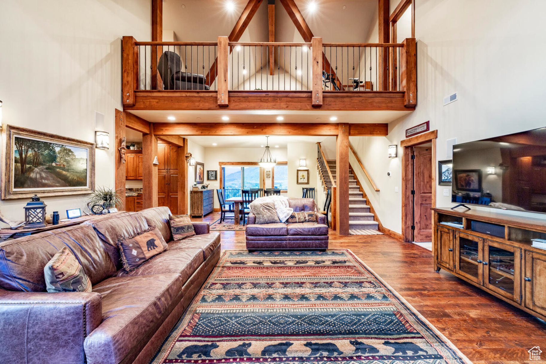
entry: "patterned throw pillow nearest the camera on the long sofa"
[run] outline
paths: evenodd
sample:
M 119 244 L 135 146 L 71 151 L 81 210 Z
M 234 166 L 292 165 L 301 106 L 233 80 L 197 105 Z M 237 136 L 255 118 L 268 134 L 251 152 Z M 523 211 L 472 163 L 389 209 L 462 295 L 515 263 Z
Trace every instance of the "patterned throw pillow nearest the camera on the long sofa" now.
M 91 292 L 91 281 L 68 247 L 59 250 L 44 267 L 48 292 Z

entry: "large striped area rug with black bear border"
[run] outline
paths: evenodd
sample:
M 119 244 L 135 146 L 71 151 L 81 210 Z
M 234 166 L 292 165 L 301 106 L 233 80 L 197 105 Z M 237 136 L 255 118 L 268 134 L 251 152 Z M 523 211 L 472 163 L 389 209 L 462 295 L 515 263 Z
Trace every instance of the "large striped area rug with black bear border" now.
M 227 250 L 154 364 L 470 363 L 351 250 Z

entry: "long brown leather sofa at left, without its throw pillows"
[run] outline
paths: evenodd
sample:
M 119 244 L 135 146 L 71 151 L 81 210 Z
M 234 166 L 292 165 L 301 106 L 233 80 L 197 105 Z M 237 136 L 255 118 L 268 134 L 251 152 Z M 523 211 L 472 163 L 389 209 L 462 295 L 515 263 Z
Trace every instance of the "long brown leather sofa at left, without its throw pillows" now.
M 1 363 L 147 363 L 220 255 L 207 223 L 172 241 L 168 207 L 98 217 L 0 244 Z M 169 249 L 131 272 L 116 241 L 156 225 Z M 75 253 L 91 292 L 47 293 L 44 266 L 62 247 Z

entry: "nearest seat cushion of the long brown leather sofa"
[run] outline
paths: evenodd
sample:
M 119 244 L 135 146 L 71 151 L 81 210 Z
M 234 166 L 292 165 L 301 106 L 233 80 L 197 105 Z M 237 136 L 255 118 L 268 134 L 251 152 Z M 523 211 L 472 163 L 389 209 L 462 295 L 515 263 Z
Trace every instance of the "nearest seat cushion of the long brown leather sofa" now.
M 112 277 L 93 287 L 102 296 L 103 321 L 85 338 L 88 364 L 117 364 L 146 343 L 182 296 L 182 276 L 171 273 Z

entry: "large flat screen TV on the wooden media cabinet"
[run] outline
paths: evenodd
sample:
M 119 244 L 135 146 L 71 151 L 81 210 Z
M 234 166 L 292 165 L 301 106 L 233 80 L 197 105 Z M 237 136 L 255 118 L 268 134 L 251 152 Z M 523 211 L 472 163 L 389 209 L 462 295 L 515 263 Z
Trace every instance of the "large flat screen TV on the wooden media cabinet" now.
M 454 145 L 452 202 L 546 213 L 546 127 Z

